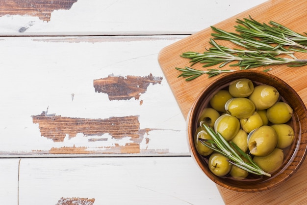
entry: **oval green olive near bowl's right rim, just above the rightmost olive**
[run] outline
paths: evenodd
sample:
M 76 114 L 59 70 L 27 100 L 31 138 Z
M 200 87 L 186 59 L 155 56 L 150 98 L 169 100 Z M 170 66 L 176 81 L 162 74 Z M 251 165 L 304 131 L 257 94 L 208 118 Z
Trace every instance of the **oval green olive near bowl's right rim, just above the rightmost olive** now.
M 274 124 L 283 124 L 292 117 L 293 110 L 285 102 L 277 102 L 266 111 L 269 121 Z

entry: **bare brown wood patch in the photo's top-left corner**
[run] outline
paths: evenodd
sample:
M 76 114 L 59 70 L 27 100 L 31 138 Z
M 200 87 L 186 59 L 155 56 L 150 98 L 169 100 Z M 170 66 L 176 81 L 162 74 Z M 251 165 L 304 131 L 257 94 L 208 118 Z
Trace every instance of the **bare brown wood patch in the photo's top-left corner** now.
M 37 16 L 43 21 L 50 21 L 54 10 L 70 9 L 75 2 L 77 0 L 1 0 L 0 16 L 29 15 Z

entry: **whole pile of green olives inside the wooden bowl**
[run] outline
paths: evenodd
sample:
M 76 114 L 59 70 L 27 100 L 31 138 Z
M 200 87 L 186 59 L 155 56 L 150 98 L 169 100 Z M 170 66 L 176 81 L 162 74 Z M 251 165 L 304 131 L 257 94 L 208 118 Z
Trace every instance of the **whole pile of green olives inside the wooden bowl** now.
M 278 170 L 284 159 L 284 149 L 294 141 L 294 130 L 289 125 L 293 110 L 281 100 L 278 90 L 257 84 L 249 79 L 237 79 L 218 90 L 201 113 L 204 121 L 250 154 L 265 172 Z M 207 158 L 209 170 L 216 176 L 245 179 L 249 173 L 231 165 L 227 158 L 203 145 L 198 139 L 211 139 L 199 126 L 195 132 L 195 146 Z

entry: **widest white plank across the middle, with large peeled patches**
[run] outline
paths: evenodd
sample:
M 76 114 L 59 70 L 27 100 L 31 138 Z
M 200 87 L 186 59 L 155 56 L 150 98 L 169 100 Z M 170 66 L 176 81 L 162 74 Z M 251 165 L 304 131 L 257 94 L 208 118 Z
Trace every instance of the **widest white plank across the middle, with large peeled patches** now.
M 182 37 L 2 37 L 1 156 L 188 155 L 157 62 Z

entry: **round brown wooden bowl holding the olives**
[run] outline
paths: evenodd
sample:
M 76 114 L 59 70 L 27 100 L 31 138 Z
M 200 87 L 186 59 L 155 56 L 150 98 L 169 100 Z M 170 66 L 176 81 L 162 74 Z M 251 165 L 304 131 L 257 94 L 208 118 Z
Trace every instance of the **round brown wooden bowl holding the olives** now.
M 197 121 L 209 100 L 215 92 L 227 87 L 231 81 L 248 78 L 256 84 L 266 84 L 277 88 L 280 96 L 293 109 L 293 117 L 288 122 L 294 130 L 295 139 L 291 146 L 284 150 L 284 161 L 279 170 L 268 176 L 249 175 L 246 180 L 235 180 L 230 177 L 215 176 L 208 169 L 207 159 L 200 155 L 194 146 L 194 135 Z M 307 110 L 304 102 L 293 88 L 274 75 L 263 71 L 240 70 L 218 77 L 216 81 L 205 88 L 194 102 L 187 118 L 187 132 L 191 155 L 203 172 L 216 184 L 238 192 L 260 192 L 277 187 L 288 180 L 302 165 L 307 149 Z

